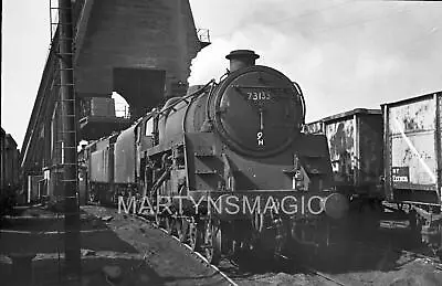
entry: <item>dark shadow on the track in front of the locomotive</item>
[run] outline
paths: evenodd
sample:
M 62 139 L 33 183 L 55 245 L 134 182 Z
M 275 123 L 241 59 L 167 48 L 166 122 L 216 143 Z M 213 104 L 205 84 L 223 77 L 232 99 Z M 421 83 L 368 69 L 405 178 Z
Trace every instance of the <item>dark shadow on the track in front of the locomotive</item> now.
M 430 250 L 408 229 L 359 229 L 340 232 L 339 237 L 328 247 L 317 248 L 293 243 L 290 259 L 262 258 L 244 255 L 235 261 L 240 271 L 232 277 L 252 277 L 256 274 L 286 273 L 307 274 L 314 268 L 328 274 L 364 272 L 393 272 L 414 261 L 417 255 L 404 254 L 399 250 L 429 255 Z M 225 268 L 230 273 L 230 269 Z

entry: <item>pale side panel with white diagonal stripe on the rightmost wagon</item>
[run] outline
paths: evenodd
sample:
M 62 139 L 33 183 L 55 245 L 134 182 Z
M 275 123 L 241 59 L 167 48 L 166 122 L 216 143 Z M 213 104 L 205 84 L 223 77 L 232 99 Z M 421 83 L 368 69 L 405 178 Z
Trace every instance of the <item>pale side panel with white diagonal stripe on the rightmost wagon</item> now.
M 433 97 L 388 108 L 390 184 L 396 201 L 439 203 Z

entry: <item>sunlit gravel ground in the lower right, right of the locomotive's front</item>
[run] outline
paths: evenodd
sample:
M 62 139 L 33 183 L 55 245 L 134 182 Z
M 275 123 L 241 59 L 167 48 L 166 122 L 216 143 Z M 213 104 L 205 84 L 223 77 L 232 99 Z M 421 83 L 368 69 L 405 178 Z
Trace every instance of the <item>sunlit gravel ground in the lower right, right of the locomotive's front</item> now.
M 404 234 L 400 244 L 409 245 L 404 242 L 407 239 Z M 442 264 L 438 259 L 415 255 L 415 253 L 428 254 L 425 247 L 419 246 L 414 250 L 409 248 L 410 252 L 398 252 L 393 247 L 388 247 L 389 243 L 398 245 L 399 242 L 396 240 L 400 239 L 397 237 L 397 233 L 380 233 L 379 235 L 382 237 L 377 237 L 376 241 L 380 243 L 378 245 L 354 243 L 338 256 L 329 256 L 320 262 L 315 259 L 308 262 L 311 265 L 308 269 L 316 269 L 327 278 L 305 267 L 308 252 L 301 254 L 302 257 L 297 263 L 285 265 L 284 272 L 236 274 L 229 272 L 228 267 L 225 272 L 239 285 L 442 285 Z

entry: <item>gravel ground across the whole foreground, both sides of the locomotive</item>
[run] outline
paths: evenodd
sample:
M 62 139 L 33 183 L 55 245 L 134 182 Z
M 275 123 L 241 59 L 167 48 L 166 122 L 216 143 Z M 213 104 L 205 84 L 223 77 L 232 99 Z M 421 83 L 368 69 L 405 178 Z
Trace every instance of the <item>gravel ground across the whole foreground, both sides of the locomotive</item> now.
M 112 216 L 104 222 L 102 218 Z M 8 218 L 0 232 L 1 285 L 11 279 L 11 252 L 38 253 L 33 261 L 34 285 L 113 285 L 106 282 L 104 266 L 118 266 L 119 282 L 114 285 L 225 285 L 227 282 L 212 268 L 189 255 L 189 251 L 160 230 L 116 210 L 82 208 L 82 271 L 83 280 L 67 283 L 63 279 L 63 220 L 53 213 L 24 210 L 19 218 Z M 17 231 L 22 233 L 17 233 Z M 389 239 L 390 237 L 390 239 Z M 270 262 L 261 271 L 239 271 L 223 261 L 220 269 L 238 285 L 442 285 L 442 265 L 412 253 L 400 253 L 387 245 L 406 245 L 404 234 L 385 236 L 379 247 L 355 244 L 313 267 L 335 279 L 336 284 L 320 277 L 301 263 L 285 265 L 284 271 Z M 393 241 L 391 241 L 393 237 Z M 402 240 L 401 240 L 402 237 Z M 385 245 L 382 245 L 382 242 Z M 381 247 L 382 246 L 382 247 Z M 59 251 L 60 250 L 60 251 Z M 411 251 L 423 253 L 423 250 Z M 59 262 L 59 253 L 61 254 Z M 308 257 L 309 252 L 299 254 Z M 144 259 L 146 258 L 146 259 Z M 147 263 L 143 263 L 143 262 Z M 254 262 L 256 264 L 256 262 Z M 267 267 L 269 266 L 269 267 Z M 6 282 L 6 283 L 4 283 Z

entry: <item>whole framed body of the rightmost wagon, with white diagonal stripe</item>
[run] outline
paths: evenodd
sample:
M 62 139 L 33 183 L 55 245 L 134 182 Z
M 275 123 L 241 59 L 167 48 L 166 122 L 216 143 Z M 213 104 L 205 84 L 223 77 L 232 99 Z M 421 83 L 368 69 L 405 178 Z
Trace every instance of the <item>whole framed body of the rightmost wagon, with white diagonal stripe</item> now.
M 442 92 L 383 104 L 388 201 L 440 211 Z

